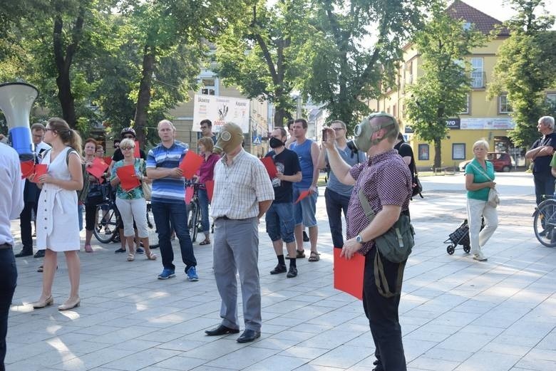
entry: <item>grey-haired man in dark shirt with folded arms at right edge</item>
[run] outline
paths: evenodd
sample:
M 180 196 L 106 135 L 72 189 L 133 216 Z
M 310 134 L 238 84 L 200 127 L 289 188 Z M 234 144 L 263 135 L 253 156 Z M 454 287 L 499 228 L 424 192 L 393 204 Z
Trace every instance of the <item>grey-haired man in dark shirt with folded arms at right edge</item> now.
M 552 177 L 550 160 L 556 149 L 556 134 L 554 132 L 554 117 L 540 117 L 537 130 L 542 138 L 533 143 L 525 158 L 533 160 L 533 180 L 535 181 L 535 196 L 537 205 L 542 202 L 542 196 L 554 194 L 554 180 Z

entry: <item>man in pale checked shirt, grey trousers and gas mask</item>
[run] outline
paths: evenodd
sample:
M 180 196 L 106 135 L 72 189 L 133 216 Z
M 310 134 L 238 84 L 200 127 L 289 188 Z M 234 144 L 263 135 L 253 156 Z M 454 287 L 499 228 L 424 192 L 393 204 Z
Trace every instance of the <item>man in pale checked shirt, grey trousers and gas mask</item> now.
M 242 147 L 242 128 L 228 122 L 220 130 L 215 150 L 224 155 L 215 165 L 215 189 L 210 214 L 215 221 L 213 243 L 216 286 L 222 305 L 222 323 L 209 336 L 239 333 L 237 281 L 240 275 L 245 330 L 238 343 L 261 335 L 259 283 L 259 219 L 274 199 L 274 189 L 262 162 Z

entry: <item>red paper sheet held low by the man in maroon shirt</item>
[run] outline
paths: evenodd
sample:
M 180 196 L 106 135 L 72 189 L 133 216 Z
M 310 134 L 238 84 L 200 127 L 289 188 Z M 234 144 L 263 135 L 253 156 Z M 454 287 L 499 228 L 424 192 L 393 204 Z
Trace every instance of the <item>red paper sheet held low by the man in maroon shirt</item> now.
M 347 260 L 340 256 L 341 249 L 332 250 L 334 250 L 334 288 L 361 300 L 365 256 L 356 253 Z

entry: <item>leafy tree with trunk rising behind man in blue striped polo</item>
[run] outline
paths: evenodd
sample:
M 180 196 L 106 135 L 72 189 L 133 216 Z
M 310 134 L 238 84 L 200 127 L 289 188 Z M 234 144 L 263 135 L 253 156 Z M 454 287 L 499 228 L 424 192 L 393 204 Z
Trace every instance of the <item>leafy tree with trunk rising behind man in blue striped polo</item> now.
M 185 100 L 187 90 L 197 84 L 200 60 L 207 52 L 208 42 L 237 16 L 240 4 L 240 0 L 129 0 L 121 4 L 123 14 L 130 17 L 128 27 L 141 56 L 133 119 L 140 142 L 144 142 L 148 115 L 153 109 L 153 76 L 162 81 L 162 85 L 175 87 L 175 90 L 168 90 L 172 94 L 165 97 L 166 108 L 168 104 Z M 174 75 L 175 78 L 163 80 L 170 78 L 170 75 L 163 75 L 168 70 L 158 68 L 164 58 L 168 58 L 170 65 L 175 58 L 181 58 L 182 70 Z

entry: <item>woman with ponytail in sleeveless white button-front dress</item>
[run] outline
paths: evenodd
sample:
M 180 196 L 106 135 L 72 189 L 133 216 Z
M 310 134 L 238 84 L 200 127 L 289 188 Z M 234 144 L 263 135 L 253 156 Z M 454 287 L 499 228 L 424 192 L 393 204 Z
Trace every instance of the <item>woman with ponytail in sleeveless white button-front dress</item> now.
M 53 117 L 46 124 L 44 141 L 52 150 L 43 156 L 48 172 L 36 179 L 42 188 L 37 211 L 37 249 L 46 250 L 43 261 L 43 290 L 33 308 L 52 305 L 52 283 L 56 273 L 58 251 L 66 254 L 71 291 L 58 310 L 68 310 L 80 304 L 79 299 L 79 226 L 77 193 L 83 188 L 81 170 L 81 137 L 61 118 Z

